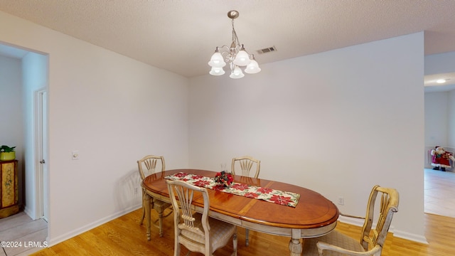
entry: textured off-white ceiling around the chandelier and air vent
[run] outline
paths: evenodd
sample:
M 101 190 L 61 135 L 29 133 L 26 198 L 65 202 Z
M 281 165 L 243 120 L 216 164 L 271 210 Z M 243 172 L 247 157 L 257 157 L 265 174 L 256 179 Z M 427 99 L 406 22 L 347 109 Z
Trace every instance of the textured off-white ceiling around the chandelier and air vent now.
M 0 0 L 0 11 L 188 78 L 230 44 L 232 9 L 248 52 L 277 48 L 255 53 L 259 65 L 419 31 L 425 54 L 455 50 L 453 0 Z

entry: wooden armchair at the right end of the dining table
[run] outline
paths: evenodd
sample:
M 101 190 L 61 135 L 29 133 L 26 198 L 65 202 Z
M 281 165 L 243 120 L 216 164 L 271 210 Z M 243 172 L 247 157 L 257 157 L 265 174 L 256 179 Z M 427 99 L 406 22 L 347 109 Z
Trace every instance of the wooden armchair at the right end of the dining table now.
M 380 203 L 375 203 L 376 198 L 380 198 Z M 350 218 L 365 219 L 360 239 L 355 240 L 333 230 L 320 238 L 304 239 L 303 255 L 381 255 L 393 214 L 398 211 L 399 201 L 400 195 L 394 188 L 374 186 L 368 199 L 365 218 L 340 213 Z M 375 204 L 377 204 L 376 208 Z M 375 214 L 378 214 L 377 218 L 373 218 Z M 375 220 L 375 228 L 372 228 L 373 220 Z

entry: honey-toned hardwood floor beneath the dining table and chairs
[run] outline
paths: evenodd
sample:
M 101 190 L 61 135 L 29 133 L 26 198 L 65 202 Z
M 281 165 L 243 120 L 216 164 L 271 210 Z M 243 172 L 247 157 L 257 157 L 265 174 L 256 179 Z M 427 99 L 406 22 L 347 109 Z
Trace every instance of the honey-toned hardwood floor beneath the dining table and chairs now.
M 395 238 L 390 234 L 385 242 L 382 255 L 455 255 L 453 246 L 455 218 L 432 214 L 425 216 L 425 235 L 429 245 Z M 164 237 L 159 238 L 157 228 L 153 228 L 150 242 L 146 240 L 144 225 L 139 225 L 141 218 L 141 209 L 139 209 L 33 255 L 173 255 L 173 225 L 172 219 L 169 217 L 164 221 Z M 354 238 L 357 238 L 357 234 L 360 232 L 359 227 L 344 223 L 339 223 L 337 229 Z M 245 247 L 245 229 L 239 228 L 238 233 L 238 255 L 289 255 L 289 238 L 250 230 L 250 246 Z M 182 247 L 181 255 L 186 255 L 186 252 L 187 250 Z M 232 244 L 228 244 L 217 250 L 215 255 L 228 256 L 231 252 Z M 192 255 L 200 254 L 193 253 Z

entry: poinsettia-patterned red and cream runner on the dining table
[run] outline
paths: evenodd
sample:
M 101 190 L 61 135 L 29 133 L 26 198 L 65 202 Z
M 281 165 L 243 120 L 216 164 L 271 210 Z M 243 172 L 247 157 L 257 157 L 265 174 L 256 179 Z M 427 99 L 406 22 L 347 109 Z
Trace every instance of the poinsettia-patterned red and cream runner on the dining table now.
M 223 185 L 216 183 L 214 178 L 195 174 L 186 174 L 183 172 L 173 174 L 171 176 L 166 176 L 164 178 L 173 181 L 186 181 L 195 186 L 210 188 L 213 190 L 223 191 L 226 193 L 233 193 L 235 195 L 246 196 L 248 198 L 261 199 L 267 202 L 277 203 L 282 206 L 296 207 L 300 198 L 300 195 L 298 193 L 277 191 L 272 188 L 262 188 L 258 186 L 251 186 L 237 182 L 232 183 L 231 186 L 225 187 Z

